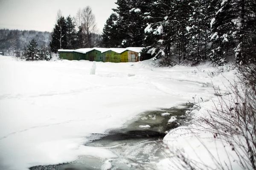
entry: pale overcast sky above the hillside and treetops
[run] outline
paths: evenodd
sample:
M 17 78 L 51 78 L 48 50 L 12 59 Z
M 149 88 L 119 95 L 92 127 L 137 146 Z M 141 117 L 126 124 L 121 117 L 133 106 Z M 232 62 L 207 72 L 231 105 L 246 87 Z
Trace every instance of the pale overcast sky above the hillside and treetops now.
M 116 0 L 0 0 L 0 28 L 52 31 L 60 9 L 64 17 L 76 16 L 79 8 L 90 6 L 99 33 L 116 8 Z

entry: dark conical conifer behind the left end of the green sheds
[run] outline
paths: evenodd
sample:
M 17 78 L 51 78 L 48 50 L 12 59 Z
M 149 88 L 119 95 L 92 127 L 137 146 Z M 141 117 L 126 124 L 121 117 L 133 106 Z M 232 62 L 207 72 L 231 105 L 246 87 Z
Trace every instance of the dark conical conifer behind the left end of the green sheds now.
M 58 49 L 67 48 L 67 23 L 63 16 L 61 16 L 52 32 L 52 41 L 50 42 L 52 52 L 57 52 Z

